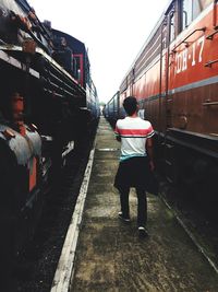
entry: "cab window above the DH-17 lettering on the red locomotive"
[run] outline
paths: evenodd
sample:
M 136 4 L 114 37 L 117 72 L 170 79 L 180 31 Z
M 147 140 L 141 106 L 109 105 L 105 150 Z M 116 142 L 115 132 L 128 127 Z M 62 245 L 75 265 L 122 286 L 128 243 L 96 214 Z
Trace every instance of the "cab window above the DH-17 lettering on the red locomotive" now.
M 182 30 L 185 30 L 213 0 L 182 0 Z

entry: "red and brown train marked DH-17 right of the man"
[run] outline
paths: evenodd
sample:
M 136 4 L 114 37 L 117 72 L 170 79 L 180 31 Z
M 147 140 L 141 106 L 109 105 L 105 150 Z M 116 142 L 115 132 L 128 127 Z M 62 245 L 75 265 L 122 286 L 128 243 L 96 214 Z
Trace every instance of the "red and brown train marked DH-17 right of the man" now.
M 120 85 L 120 110 L 134 95 L 154 125 L 168 180 L 210 202 L 218 198 L 217 48 L 217 0 L 170 1 Z

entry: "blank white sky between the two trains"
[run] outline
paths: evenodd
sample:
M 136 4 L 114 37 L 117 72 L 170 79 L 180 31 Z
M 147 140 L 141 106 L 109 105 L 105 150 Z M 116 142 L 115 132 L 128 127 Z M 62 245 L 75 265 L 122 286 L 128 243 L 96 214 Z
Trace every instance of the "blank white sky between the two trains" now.
M 28 0 L 40 21 L 83 42 L 101 102 L 109 101 L 169 0 Z

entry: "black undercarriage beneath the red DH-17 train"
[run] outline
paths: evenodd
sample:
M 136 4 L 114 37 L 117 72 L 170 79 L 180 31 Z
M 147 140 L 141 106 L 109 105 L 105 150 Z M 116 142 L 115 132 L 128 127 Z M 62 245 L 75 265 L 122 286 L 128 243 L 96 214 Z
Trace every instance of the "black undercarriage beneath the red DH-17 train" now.
M 155 137 L 157 171 L 186 198 L 217 218 L 217 138 L 180 129 Z M 214 206 L 214 208 L 213 208 Z

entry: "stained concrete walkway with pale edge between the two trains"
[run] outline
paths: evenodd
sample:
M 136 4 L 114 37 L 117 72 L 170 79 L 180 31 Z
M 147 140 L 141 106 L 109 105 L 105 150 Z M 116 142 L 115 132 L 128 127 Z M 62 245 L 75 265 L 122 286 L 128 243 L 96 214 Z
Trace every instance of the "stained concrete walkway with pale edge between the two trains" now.
M 113 178 L 119 147 L 101 117 L 89 184 L 87 191 L 86 187 L 82 191 L 86 198 L 80 202 L 84 207 L 78 208 L 83 212 L 78 211 L 72 227 L 77 235 L 66 235 L 51 291 L 218 291 L 216 270 L 159 197 L 148 194 L 148 237 L 137 234 L 134 189 L 130 196 L 131 223 L 118 219 L 120 201 Z

